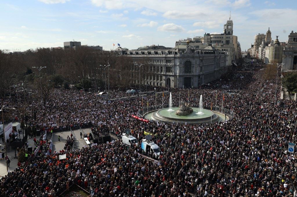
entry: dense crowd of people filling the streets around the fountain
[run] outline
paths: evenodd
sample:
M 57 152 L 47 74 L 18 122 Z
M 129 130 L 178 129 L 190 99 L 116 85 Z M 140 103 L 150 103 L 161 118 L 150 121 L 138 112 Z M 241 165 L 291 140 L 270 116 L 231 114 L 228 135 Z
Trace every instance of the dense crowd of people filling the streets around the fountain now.
M 127 128 L 141 141 L 144 132 L 161 148 L 159 163 L 138 154 L 140 145 L 115 141 L 80 150 L 30 157 L 1 179 L 1 196 L 63 196 L 76 184 L 95 196 L 297 196 L 297 155 L 288 153 L 296 141 L 297 104 L 274 101 L 275 79 L 263 80 L 263 70 L 238 70 L 229 82 L 200 88 L 170 88 L 173 105 L 181 100 L 198 106 L 217 100 L 234 112 L 225 122 L 173 124 L 132 118 L 142 109 L 141 98 L 104 101 L 93 94 L 55 89 L 46 107 L 24 105 L 38 112 L 36 125 L 45 128 L 91 123 L 93 132 L 123 133 Z M 230 91 L 229 91 L 230 90 Z M 232 90 L 238 94 L 228 94 Z M 279 98 L 279 88 L 277 88 Z M 119 91 L 119 90 L 117 90 Z M 166 88 L 157 87 L 157 92 Z M 116 91 L 114 91 L 116 92 Z M 119 91 L 120 92 L 120 91 Z M 123 95 L 119 93 L 118 95 Z M 157 94 L 158 106 L 162 94 Z M 168 105 L 165 94 L 163 105 Z M 155 94 L 145 98 L 155 105 Z M 279 99 L 277 99 L 279 100 Z M 7 101 L 3 101 L 7 102 Z M 214 109 L 214 107 L 213 107 Z M 18 112 L 15 112 L 18 116 Z M 70 138 L 71 141 L 71 138 Z M 59 160 L 59 154 L 67 155 Z M 149 155 L 152 156 L 153 155 Z

